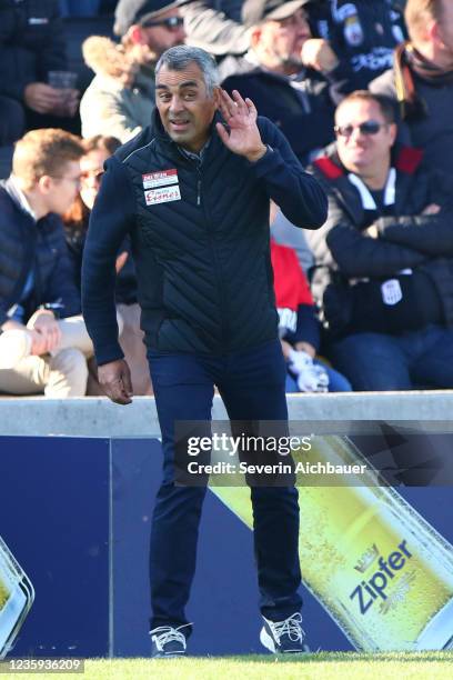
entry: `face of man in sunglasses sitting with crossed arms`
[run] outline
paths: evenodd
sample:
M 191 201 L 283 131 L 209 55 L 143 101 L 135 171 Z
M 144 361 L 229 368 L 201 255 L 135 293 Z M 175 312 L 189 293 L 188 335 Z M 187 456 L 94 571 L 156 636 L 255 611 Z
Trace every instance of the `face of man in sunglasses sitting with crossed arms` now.
M 385 121 L 375 101 L 340 106 L 335 124 L 339 157 L 350 172 L 366 178 L 387 166 L 396 126 Z

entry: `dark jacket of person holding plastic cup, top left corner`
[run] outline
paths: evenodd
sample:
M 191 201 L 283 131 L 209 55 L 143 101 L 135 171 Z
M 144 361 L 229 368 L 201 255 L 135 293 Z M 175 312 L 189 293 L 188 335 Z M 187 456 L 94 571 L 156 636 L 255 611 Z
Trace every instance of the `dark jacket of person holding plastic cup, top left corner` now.
M 22 101 L 26 86 L 66 68 L 58 0 L 0 0 L 0 94 Z

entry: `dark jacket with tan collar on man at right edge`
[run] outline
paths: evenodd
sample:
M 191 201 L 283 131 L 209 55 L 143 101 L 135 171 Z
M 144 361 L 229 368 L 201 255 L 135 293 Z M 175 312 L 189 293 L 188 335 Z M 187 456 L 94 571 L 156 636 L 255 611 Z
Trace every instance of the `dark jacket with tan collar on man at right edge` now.
M 453 174 L 453 74 L 422 77 L 411 68 L 414 58 L 410 49 L 401 50 L 394 68 L 371 82 L 370 90 L 399 102 L 400 139 L 423 149 L 430 166 Z

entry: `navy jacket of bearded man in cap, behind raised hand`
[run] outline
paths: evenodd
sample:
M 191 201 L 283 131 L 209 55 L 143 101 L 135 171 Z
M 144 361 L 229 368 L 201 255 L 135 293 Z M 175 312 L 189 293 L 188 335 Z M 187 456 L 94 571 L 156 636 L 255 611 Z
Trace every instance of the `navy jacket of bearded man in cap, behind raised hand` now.
M 313 69 L 302 69 L 290 78 L 254 66 L 245 58 L 230 57 L 220 72 L 224 78 L 222 87 L 249 97 L 260 116 L 280 128 L 302 163 L 310 160 L 312 151 L 333 140 L 334 106 L 329 83 Z

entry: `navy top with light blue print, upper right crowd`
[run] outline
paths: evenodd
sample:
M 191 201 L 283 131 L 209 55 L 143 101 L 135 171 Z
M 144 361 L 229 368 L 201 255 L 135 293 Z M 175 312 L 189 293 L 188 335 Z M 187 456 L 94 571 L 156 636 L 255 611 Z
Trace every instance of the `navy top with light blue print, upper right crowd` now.
M 392 67 L 394 48 L 406 39 L 400 8 L 392 0 L 331 2 L 326 38 L 340 60 L 329 73 L 343 93 L 365 89 Z

